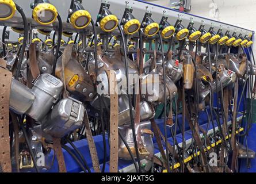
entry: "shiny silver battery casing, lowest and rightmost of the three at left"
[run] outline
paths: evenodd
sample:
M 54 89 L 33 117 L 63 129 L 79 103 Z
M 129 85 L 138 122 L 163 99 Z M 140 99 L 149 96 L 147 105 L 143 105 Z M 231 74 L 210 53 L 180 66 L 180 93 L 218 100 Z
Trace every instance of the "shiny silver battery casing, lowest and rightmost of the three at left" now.
M 47 121 L 42 123 L 42 129 L 53 137 L 61 138 L 82 127 L 84 113 L 82 102 L 71 97 L 63 98 L 48 114 Z

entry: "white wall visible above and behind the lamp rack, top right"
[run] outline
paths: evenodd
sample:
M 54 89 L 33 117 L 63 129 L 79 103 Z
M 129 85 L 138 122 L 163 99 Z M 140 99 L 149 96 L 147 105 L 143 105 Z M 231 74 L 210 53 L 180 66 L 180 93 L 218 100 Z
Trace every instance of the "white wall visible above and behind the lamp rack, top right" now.
M 169 0 L 148 2 L 170 7 Z M 192 0 L 190 13 L 256 31 L 256 0 Z M 254 53 L 256 53 L 255 37 Z

